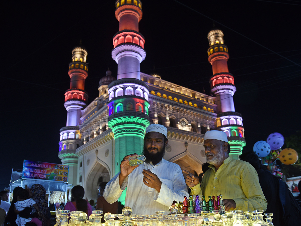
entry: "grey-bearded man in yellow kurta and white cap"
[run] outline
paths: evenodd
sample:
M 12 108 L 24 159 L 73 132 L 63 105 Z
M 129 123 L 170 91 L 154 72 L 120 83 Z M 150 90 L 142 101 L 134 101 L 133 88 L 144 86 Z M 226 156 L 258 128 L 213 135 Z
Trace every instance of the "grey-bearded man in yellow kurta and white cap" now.
M 183 170 L 191 195 L 218 196 L 222 194 L 226 211 L 267 208 L 258 175 L 248 162 L 229 158 L 230 146 L 226 133 L 210 130 L 204 136 L 206 161 L 210 164 L 201 184 L 196 175 Z

